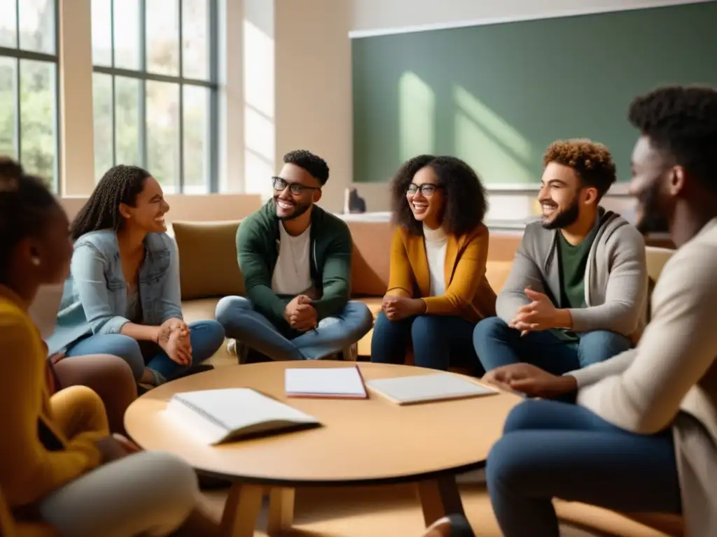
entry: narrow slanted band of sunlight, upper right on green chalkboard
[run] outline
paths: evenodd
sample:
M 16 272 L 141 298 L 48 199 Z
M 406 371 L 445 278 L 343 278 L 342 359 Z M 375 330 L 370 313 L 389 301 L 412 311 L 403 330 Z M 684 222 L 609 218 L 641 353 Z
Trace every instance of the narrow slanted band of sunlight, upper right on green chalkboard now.
M 483 102 L 480 102 L 475 95 L 462 86 L 455 86 L 453 100 L 455 105 L 465 112 L 465 115 L 473 119 L 485 132 L 492 135 L 496 142 L 503 145 L 516 158 L 526 163 L 530 162 L 533 155 L 531 142 Z

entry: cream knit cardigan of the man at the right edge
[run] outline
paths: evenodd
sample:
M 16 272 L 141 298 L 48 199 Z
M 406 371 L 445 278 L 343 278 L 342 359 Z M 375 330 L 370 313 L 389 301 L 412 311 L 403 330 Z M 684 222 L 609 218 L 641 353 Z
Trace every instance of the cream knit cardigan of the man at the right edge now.
M 671 427 L 690 537 L 717 535 L 717 218 L 670 258 L 636 349 L 569 374 L 578 404 L 638 435 Z

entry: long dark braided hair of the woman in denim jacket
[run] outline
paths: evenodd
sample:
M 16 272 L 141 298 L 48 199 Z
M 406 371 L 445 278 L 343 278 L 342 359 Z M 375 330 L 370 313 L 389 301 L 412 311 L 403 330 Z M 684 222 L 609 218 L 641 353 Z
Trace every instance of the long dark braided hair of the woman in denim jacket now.
M 119 231 L 124 221 L 120 203 L 134 206 L 149 177 L 151 174 L 138 166 L 120 164 L 110 168 L 72 221 L 72 238 L 77 241 L 85 233 L 100 229 Z

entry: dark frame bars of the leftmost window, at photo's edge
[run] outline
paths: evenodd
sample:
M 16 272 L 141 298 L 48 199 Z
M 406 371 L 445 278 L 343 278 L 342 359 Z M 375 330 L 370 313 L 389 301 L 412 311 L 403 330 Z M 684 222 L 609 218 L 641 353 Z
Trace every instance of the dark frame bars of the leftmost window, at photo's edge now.
M 20 48 L 20 2 L 15 0 L 15 37 L 16 47 L 0 47 L 0 57 L 12 58 L 16 60 L 15 69 L 15 121 L 14 121 L 14 137 L 15 137 L 15 155 L 14 158 L 22 164 L 22 61 L 23 59 L 32 60 L 34 62 L 44 62 L 54 64 L 54 173 L 52 183 L 49 187 L 52 192 L 60 193 L 60 170 L 62 170 L 62 112 L 60 109 L 60 1 L 51 0 L 54 7 L 54 54 L 47 52 L 35 52 Z M 35 173 L 35 170 L 27 170 L 29 173 Z M 48 178 L 43 177 L 43 180 Z

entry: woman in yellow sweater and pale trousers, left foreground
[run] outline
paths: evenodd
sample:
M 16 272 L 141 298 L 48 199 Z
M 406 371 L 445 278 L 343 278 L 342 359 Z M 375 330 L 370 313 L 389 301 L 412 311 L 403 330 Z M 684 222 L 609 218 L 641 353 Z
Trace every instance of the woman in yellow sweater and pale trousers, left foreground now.
M 17 165 L 0 158 L 0 489 L 14 518 L 72 537 L 160 536 L 180 526 L 215 534 L 194 511 L 188 465 L 110 436 L 89 388 L 49 395 L 47 347 L 27 308 L 40 285 L 67 277 L 69 223 L 41 180 L 3 173 L 7 166 Z

